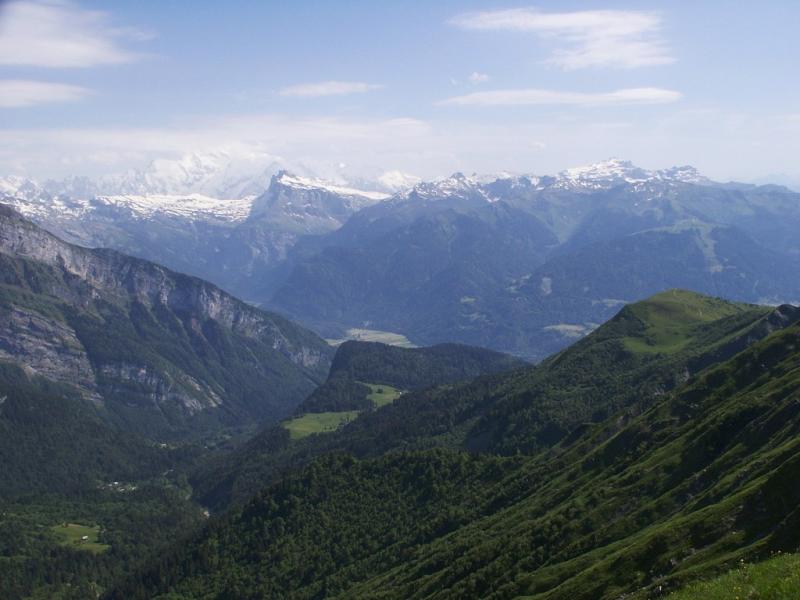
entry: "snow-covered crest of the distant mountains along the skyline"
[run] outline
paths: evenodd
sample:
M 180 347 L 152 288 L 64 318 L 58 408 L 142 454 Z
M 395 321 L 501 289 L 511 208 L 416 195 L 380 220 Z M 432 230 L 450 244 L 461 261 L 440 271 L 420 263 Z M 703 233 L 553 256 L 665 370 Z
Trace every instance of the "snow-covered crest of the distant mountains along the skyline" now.
M 45 225 L 70 221 L 80 230 L 95 216 L 108 220 L 186 219 L 235 225 L 248 217 L 294 233 L 335 230 L 354 213 L 385 201 L 496 202 L 514 190 L 596 191 L 619 185 L 712 185 L 693 167 L 647 170 L 611 159 L 557 176 L 455 173 L 435 181 L 387 171 L 365 188 L 280 168 L 268 154 L 215 152 L 157 160 L 147 169 L 114 177 L 71 177 L 38 183 L 0 178 L 0 201 Z M 409 187 L 411 186 L 411 187 Z M 377 189 L 401 190 L 394 195 Z M 265 191 L 266 190 L 266 191 Z M 73 241 L 77 241 L 74 240 Z M 81 238 L 80 241 L 90 241 Z

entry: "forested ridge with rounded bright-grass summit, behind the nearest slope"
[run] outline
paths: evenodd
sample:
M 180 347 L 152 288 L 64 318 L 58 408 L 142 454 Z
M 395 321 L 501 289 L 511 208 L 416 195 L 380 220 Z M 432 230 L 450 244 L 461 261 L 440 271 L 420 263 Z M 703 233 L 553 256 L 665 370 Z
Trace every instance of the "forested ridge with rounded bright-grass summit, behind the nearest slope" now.
M 665 313 L 683 326 L 673 331 L 665 324 L 670 319 L 659 316 Z M 194 485 L 203 504 L 219 509 L 247 499 L 289 466 L 331 451 L 360 457 L 431 446 L 540 452 L 619 410 L 646 409 L 691 374 L 796 318 L 790 307 L 741 305 L 671 291 L 624 308 L 537 367 L 407 393 L 325 436 L 293 442 L 283 428 L 267 429 L 229 460 L 198 473 Z M 670 352 L 641 350 L 659 349 L 653 340 L 661 339 L 675 344 Z M 332 391 L 352 401 L 348 394 L 354 389 L 363 391 L 350 385 Z

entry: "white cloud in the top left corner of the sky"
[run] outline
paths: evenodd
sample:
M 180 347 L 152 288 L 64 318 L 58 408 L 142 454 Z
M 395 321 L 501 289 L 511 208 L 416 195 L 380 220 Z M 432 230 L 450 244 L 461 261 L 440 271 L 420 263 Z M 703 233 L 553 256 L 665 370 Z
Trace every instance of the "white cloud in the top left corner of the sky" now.
M 118 28 L 102 11 L 66 0 L 17 0 L 0 7 L 0 65 L 93 67 L 131 62 L 139 55 L 123 40 L 148 33 Z

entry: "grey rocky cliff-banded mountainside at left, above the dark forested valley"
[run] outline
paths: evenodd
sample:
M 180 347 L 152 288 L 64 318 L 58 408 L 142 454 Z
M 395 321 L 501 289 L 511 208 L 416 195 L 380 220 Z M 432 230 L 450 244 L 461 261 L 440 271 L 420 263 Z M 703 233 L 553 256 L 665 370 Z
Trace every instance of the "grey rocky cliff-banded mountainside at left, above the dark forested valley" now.
M 332 350 L 215 286 L 66 244 L 0 210 L 0 357 L 99 403 L 152 437 L 280 418 Z

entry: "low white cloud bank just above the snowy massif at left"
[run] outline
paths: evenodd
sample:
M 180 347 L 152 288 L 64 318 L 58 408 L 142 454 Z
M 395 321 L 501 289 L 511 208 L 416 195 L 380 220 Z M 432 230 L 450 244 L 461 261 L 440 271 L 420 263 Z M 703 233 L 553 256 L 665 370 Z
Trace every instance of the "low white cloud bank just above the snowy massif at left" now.
M 164 128 L 0 129 L 0 175 L 59 177 L 124 171 L 156 158 L 222 147 L 254 148 L 309 165 L 415 165 L 430 140 L 424 121 L 242 115 Z M 241 153 L 242 151 L 239 150 Z M 405 158 L 398 158 L 405 157 Z

